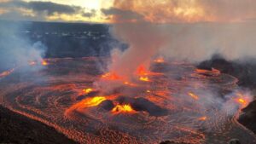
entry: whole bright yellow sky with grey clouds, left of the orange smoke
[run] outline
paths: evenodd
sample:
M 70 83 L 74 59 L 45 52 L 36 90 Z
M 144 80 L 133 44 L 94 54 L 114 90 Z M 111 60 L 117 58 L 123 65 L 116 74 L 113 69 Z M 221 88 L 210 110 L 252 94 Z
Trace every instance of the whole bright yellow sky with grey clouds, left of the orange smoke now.
M 0 19 L 108 23 L 101 9 L 112 5 L 113 0 L 0 0 Z

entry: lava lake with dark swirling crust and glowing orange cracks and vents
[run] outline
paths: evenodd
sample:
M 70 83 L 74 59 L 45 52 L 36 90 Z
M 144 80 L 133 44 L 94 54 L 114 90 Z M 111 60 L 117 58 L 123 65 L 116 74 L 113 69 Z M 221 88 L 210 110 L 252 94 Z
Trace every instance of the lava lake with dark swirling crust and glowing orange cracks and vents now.
M 238 80 L 218 70 L 153 62 L 151 71 L 160 74 L 106 94 L 101 89 L 84 91 L 94 88 L 104 74 L 98 58 L 47 61 L 42 70 L 16 68 L 2 77 L 0 102 L 74 141 L 222 144 L 239 138 L 241 143 L 256 143 L 255 135 L 236 121 L 244 107 Z

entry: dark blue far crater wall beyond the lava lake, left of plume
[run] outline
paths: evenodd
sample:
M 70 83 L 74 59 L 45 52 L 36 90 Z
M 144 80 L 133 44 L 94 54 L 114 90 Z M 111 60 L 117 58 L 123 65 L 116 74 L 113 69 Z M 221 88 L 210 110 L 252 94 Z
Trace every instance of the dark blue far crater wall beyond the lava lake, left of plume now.
M 0 20 L 0 25 L 19 27 L 17 35 L 31 43 L 44 43 L 48 58 L 109 55 L 113 48 L 127 48 L 110 35 L 109 25 L 4 20 Z

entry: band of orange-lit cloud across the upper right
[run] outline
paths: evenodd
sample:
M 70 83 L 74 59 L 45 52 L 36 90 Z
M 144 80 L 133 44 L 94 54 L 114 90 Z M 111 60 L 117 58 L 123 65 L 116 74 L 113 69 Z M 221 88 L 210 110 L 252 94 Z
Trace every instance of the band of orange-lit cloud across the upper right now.
M 256 17 L 255 7 L 256 1 L 252 0 L 115 0 L 113 5 L 114 9 L 131 11 L 152 23 L 242 21 Z M 115 15 L 127 16 L 118 10 L 109 11 L 113 22 L 120 20 Z

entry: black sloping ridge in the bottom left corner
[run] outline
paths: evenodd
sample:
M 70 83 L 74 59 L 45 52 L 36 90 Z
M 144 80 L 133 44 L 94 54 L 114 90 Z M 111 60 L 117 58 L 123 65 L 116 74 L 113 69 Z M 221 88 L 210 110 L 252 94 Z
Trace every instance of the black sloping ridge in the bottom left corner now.
M 54 128 L 0 106 L 0 143 L 75 144 Z

